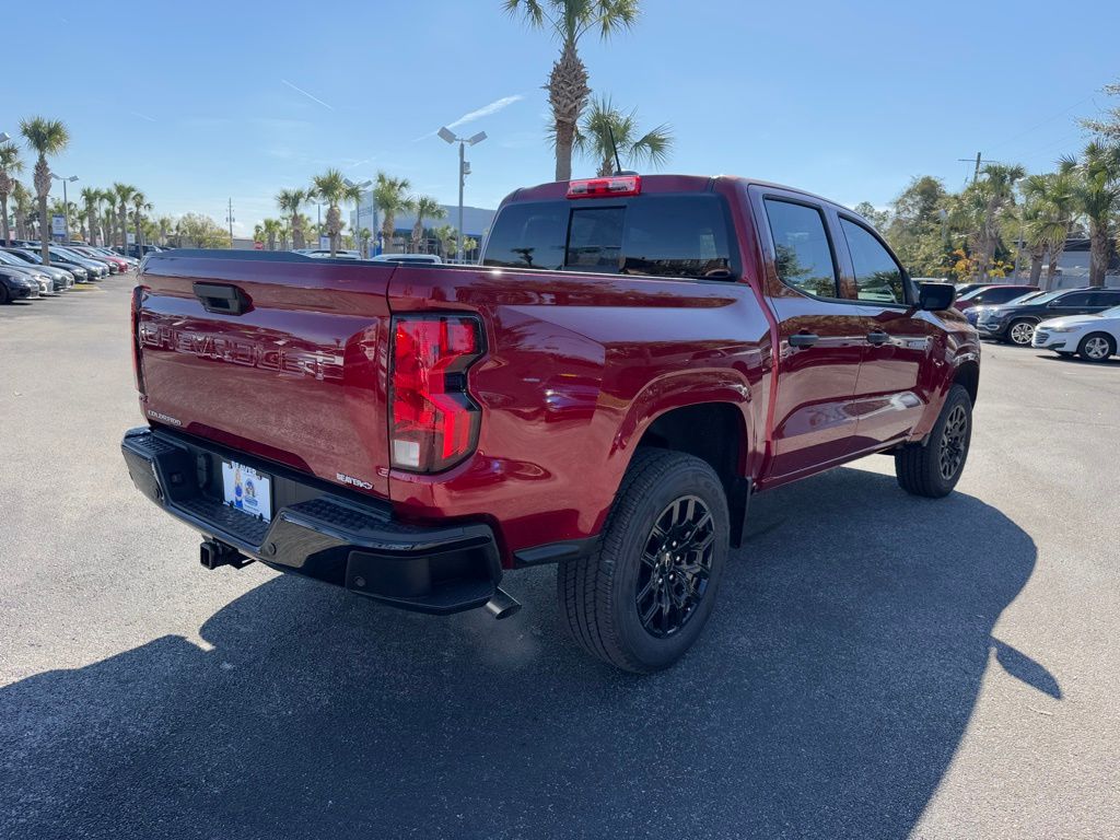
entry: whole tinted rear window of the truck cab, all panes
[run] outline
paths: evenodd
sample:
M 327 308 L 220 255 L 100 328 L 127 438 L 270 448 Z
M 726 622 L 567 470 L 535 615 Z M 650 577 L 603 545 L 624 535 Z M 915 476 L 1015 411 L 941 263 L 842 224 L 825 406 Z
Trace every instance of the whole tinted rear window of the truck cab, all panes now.
M 711 194 L 511 204 L 494 221 L 484 265 L 731 279 L 724 200 Z

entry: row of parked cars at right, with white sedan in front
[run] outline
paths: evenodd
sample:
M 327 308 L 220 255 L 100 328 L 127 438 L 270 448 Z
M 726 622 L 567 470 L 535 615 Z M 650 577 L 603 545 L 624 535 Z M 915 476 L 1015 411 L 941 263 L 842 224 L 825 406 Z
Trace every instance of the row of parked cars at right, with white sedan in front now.
M 971 283 L 958 287 L 954 306 L 981 338 L 1086 362 L 1107 362 L 1120 347 L 1120 289 Z

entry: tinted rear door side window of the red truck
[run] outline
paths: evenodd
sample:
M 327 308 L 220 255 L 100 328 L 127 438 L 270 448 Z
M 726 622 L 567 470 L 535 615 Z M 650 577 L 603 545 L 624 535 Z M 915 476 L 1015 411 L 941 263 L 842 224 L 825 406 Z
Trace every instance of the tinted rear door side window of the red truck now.
M 836 263 L 821 212 L 775 198 L 767 198 L 765 204 L 774 237 L 774 268 L 782 282 L 806 295 L 839 297 Z

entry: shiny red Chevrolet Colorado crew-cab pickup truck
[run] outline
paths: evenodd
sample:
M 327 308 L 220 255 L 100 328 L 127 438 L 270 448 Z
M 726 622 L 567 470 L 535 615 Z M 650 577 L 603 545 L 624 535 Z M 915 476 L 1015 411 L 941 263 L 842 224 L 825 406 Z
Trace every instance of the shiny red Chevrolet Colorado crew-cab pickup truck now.
M 506 571 L 558 563 L 573 638 L 654 671 L 700 634 L 754 493 L 870 452 L 953 488 L 980 347 L 952 304 L 800 190 L 545 184 L 477 265 L 148 255 L 148 424 L 122 449 L 208 568 L 503 617 Z

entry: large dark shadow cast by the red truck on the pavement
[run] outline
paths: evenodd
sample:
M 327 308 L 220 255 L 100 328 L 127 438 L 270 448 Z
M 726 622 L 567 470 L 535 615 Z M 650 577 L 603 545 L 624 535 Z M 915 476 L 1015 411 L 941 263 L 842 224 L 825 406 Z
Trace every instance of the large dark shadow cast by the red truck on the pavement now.
M 650 678 L 568 643 L 538 569 L 501 623 L 268 578 L 205 623 L 211 650 L 165 636 L 12 684 L 0 834 L 905 838 L 987 669 L 1061 698 L 991 637 L 1036 554 L 996 508 L 849 468 L 750 516 L 704 636 Z

